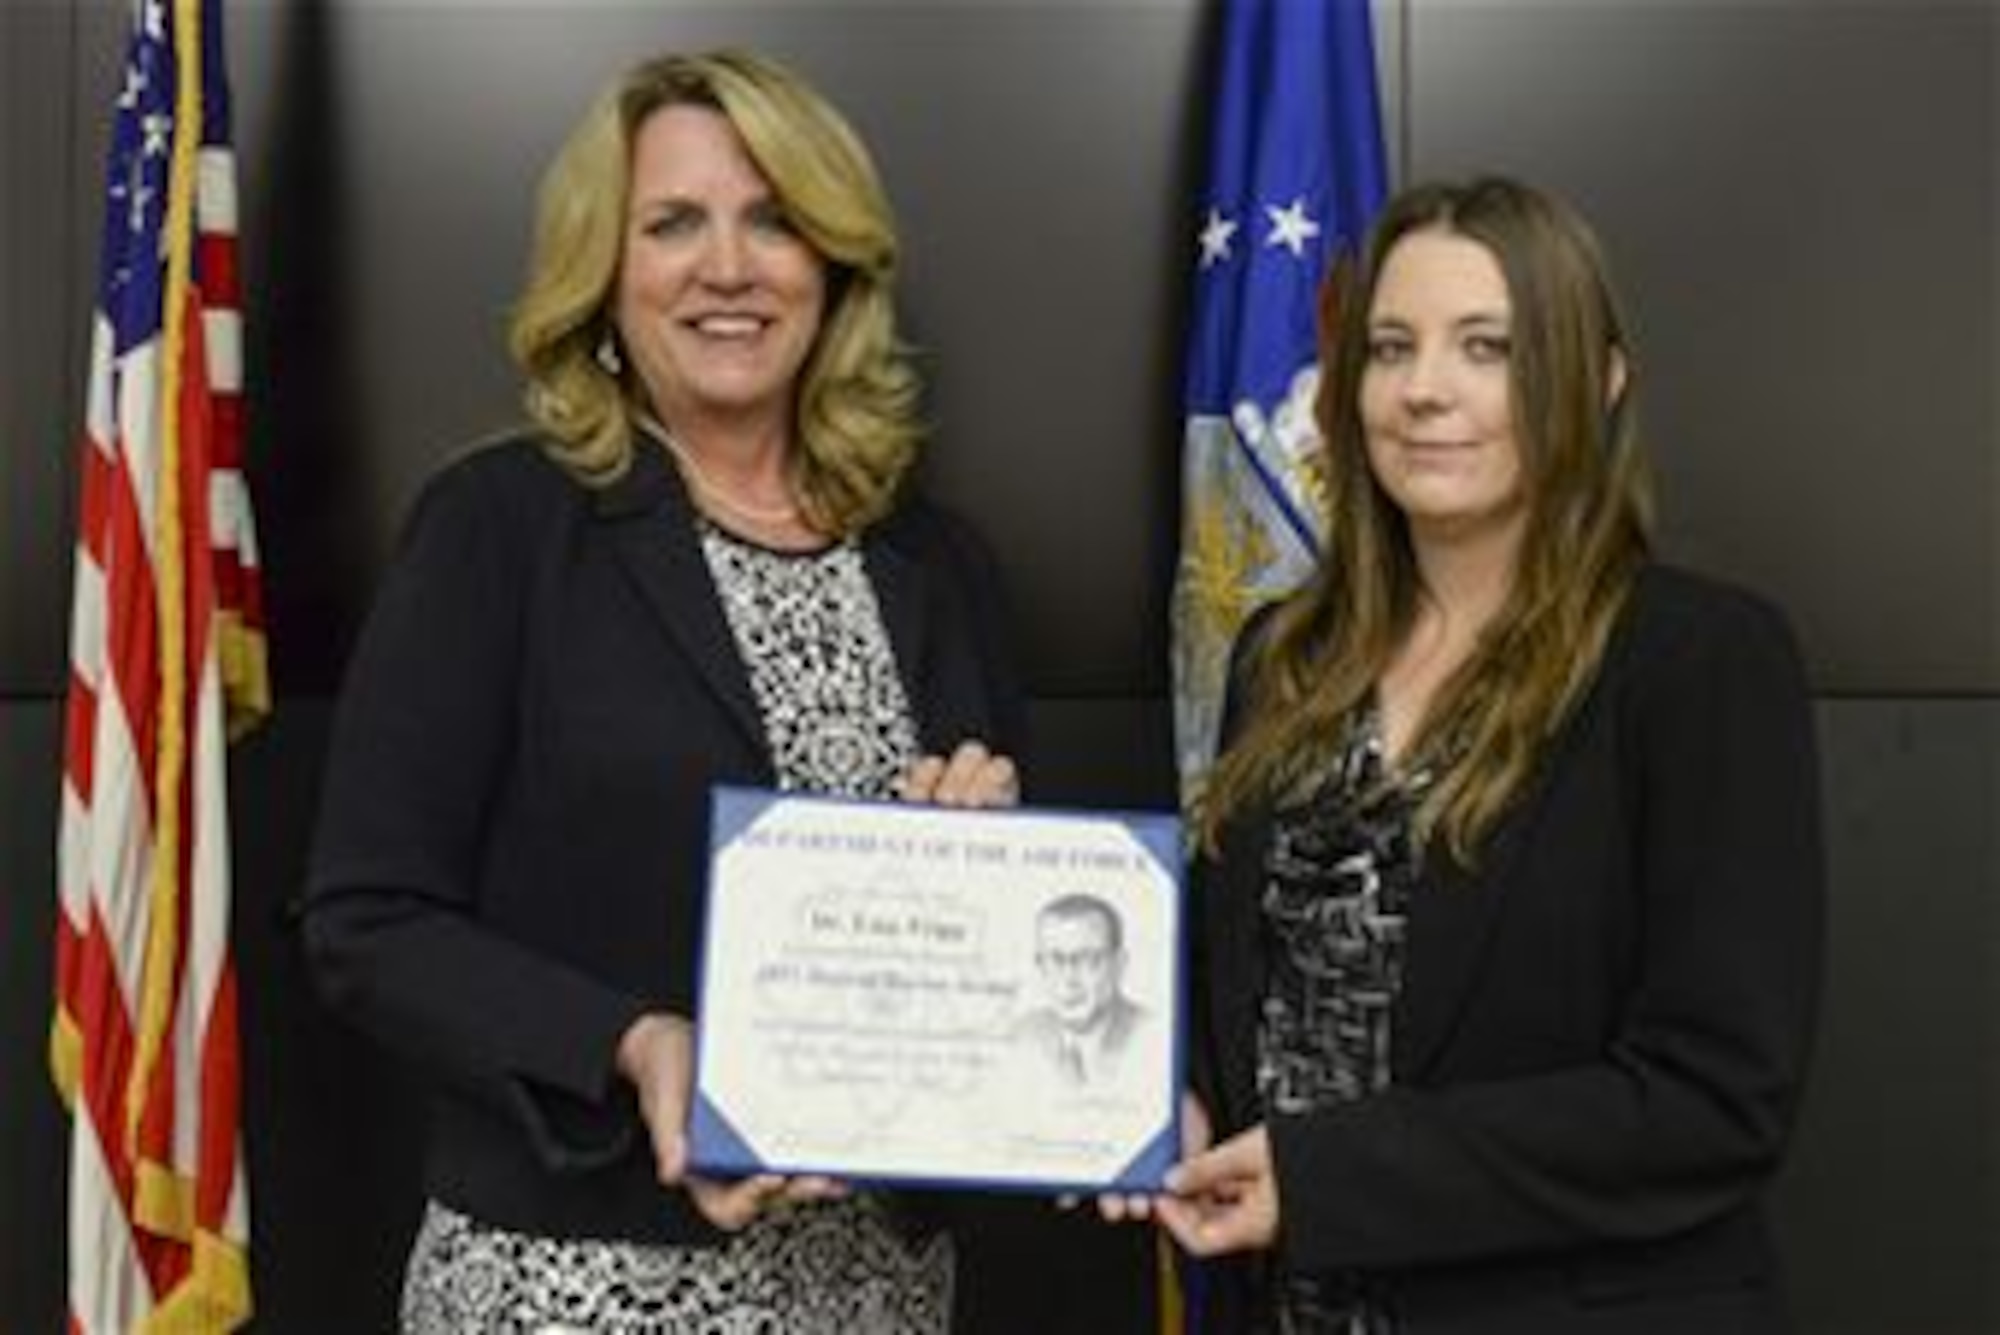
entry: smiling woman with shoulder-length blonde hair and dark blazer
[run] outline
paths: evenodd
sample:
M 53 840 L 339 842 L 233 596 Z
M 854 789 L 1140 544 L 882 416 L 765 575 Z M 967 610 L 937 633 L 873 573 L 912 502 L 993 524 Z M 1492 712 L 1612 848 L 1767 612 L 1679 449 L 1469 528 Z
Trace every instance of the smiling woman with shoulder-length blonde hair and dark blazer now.
M 866 150 L 750 52 L 626 72 L 550 166 L 534 428 L 426 490 L 348 669 L 304 931 L 436 1079 L 404 1331 L 942 1331 L 952 1247 L 684 1171 L 712 783 L 1016 799 L 1002 600 L 904 486 Z

